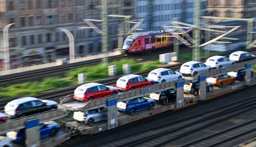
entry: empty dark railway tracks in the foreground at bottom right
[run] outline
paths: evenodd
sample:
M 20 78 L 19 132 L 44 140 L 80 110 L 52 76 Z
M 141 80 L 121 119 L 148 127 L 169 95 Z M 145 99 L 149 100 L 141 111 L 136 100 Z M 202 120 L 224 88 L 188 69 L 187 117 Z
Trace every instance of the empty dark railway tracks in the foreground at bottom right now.
M 74 147 L 232 147 L 248 140 L 248 135 L 251 138 L 256 136 L 256 96 L 231 101 L 230 104 L 170 122 L 163 121 L 164 115 L 170 115 L 166 112 L 109 132 L 75 137 L 60 146 L 68 147 L 72 143 Z M 158 121 L 162 123 L 156 123 L 157 119 L 162 119 Z M 146 122 L 153 121 L 157 125 L 142 128 Z M 129 129 L 130 133 L 126 134 Z M 122 131 L 126 133 L 120 133 Z

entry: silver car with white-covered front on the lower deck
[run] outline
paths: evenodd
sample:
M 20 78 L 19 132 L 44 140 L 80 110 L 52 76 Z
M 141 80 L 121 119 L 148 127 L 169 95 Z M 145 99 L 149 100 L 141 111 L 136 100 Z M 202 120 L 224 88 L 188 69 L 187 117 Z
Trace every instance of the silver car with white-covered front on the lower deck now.
M 100 107 L 92 110 L 86 110 L 85 112 L 74 112 L 73 118 L 76 122 L 84 122 L 89 126 L 92 126 L 94 122 L 108 119 L 108 109 L 106 107 Z

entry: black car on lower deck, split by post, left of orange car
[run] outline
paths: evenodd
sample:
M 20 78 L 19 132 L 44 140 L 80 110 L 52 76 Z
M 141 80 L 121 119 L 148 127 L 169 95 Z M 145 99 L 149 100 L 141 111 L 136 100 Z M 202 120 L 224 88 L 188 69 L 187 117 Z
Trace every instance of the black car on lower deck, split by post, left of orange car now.
M 184 84 L 184 93 L 190 93 L 190 94 L 194 94 L 194 96 L 197 96 L 198 93 L 199 93 L 199 87 L 200 87 L 199 82 L 189 83 L 189 85 Z M 212 83 L 206 82 L 206 90 L 207 91 L 212 91 L 213 90 Z

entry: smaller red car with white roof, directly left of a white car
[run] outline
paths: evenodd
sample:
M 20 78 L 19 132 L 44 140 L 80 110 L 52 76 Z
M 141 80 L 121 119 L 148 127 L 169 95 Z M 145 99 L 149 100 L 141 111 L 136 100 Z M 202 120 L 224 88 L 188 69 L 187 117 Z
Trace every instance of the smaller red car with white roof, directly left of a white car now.
M 143 76 L 136 74 L 128 74 L 126 76 L 122 76 L 116 81 L 116 88 L 118 88 L 119 91 L 130 91 L 153 84 L 155 84 L 153 79 L 144 78 Z

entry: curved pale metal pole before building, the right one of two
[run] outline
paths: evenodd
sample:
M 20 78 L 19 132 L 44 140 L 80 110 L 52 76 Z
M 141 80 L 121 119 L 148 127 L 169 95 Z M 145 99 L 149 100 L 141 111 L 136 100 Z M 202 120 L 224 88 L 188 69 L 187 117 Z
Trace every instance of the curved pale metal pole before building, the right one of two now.
M 69 59 L 70 59 L 70 63 L 74 63 L 74 59 L 75 59 L 74 37 L 73 37 L 72 33 L 70 31 L 68 31 L 67 29 L 64 29 L 64 28 L 58 28 L 58 29 L 64 31 L 68 35 Z

